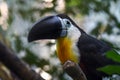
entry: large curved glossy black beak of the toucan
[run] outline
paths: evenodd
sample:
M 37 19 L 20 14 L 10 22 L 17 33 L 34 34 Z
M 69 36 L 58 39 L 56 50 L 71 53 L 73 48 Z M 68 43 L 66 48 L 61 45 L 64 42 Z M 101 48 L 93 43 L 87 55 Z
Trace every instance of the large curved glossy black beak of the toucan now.
M 46 17 L 35 23 L 28 34 L 28 41 L 39 39 L 57 39 L 62 30 L 61 22 L 57 16 Z

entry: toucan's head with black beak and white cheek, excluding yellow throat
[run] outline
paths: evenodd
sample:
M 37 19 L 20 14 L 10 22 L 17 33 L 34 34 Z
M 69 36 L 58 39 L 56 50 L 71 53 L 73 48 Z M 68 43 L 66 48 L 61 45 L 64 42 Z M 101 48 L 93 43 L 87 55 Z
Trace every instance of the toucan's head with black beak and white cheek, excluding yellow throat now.
M 78 39 L 84 31 L 70 17 L 64 14 L 45 17 L 36 22 L 28 35 L 28 41 L 70 37 Z

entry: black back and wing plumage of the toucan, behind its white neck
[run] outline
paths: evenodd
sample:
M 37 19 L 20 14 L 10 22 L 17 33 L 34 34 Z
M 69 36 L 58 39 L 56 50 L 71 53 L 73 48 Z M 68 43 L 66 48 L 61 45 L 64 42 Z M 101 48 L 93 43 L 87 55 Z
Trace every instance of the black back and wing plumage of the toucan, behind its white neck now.
M 111 47 L 86 33 L 82 33 L 77 46 L 81 54 L 79 64 L 88 80 L 102 80 L 102 77 L 108 76 L 96 69 L 106 65 L 116 64 L 116 62 L 105 56 L 105 52 L 111 50 Z

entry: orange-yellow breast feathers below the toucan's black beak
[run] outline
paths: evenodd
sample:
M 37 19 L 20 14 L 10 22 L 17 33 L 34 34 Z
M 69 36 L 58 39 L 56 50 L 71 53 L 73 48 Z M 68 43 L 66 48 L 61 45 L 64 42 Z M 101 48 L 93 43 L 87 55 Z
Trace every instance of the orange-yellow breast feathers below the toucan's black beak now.
M 57 40 L 57 55 L 62 64 L 64 64 L 64 62 L 67 60 L 71 60 L 76 63 L 79 62 L 79 56 L 73 49 L 73 43 L 67 37 L 59 38 Z

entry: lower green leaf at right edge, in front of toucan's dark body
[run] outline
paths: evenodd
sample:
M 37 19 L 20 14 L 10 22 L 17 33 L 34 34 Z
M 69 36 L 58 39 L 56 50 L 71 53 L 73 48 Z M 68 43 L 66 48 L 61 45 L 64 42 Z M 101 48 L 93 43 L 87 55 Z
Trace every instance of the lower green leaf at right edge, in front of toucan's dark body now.
M 105 72 L 106 74 L 120 74 L 120 66 L 118 65 L 108 65 L 102 68 L 98 68 L 97 70 Z

